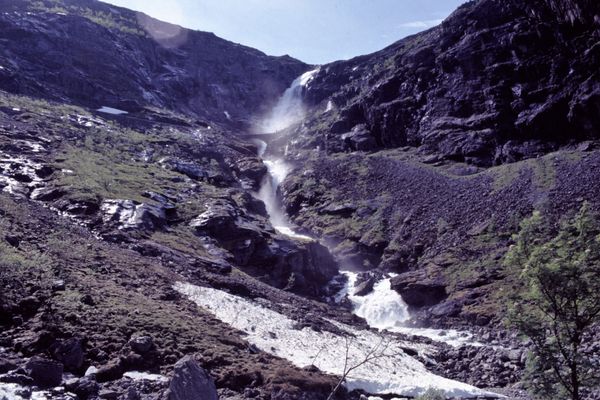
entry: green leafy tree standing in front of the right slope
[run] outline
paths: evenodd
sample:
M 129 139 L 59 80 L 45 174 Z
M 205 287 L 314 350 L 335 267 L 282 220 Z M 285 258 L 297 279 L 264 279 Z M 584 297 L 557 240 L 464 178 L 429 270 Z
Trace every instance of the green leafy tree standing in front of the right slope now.
M 550 240 L 548 241 L 548 238 Z M 584 344 L 600 322 L 600 224 L 584 203 L 552 238 L 539 213 L 521 224 L 506 257 L 520 268 L 525 290 L 510 322 L 531 339 L 528 380 L 538 395 L 581 399 L 598 382 L 598 366 Z

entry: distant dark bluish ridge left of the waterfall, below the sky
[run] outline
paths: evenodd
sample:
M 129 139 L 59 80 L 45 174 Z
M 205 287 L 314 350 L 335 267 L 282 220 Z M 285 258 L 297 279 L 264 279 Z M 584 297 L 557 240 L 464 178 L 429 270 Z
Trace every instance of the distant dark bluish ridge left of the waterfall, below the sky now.
M 308 66 L 97 1 L 3 1 L 0 87 L 244 126 Z

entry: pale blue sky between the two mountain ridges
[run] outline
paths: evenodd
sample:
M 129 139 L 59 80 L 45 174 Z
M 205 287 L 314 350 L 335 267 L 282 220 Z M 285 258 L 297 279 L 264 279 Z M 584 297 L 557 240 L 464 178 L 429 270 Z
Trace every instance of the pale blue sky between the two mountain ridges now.
M 322 64 L 437 25 L 463 0 L 105 0 L 271 55 Z

